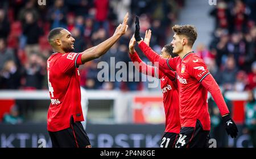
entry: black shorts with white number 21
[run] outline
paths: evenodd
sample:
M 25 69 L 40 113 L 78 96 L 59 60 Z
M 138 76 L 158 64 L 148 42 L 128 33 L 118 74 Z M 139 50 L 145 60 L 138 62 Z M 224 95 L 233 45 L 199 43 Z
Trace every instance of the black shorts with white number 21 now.
M 175 148 L 175 143 L 179 134 L 173 132 L 164 132 L 160 147 L 161 148 Z

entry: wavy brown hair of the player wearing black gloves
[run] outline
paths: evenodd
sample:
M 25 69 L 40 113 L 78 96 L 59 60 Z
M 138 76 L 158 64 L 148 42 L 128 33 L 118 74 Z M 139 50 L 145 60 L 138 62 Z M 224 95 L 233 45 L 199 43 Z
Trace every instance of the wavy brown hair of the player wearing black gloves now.
M 196 27 L 194 25 L 174 25 L 172 30 L 176 35 L 184 35 L 188 38 L 188 45 L 193 46 L 197 38 Z

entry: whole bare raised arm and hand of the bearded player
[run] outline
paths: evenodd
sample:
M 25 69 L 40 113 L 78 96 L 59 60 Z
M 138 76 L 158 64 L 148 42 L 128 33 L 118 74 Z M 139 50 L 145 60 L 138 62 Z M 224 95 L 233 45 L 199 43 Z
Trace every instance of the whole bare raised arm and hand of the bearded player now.
M 82 52 L 81 61 L 82 63 L 91 61 L 92 59 L 96 59 L 101 57 L 101 55 L 104 55 L 106 51 L 111 48 L 117 42 L 117 40 L 125 34 L 127 31 L 128 25 L 128 13 L 125 15 L 125 18 L 123 18 L 122 25 L 119 25 L 117 29 L 115 29 L 115 33 L 112 37 L 108 38 L 104 42 L 101 42 L 101 44 L 98 44 L 97 46 L 94 46 L 93 48 L 87 49 Z

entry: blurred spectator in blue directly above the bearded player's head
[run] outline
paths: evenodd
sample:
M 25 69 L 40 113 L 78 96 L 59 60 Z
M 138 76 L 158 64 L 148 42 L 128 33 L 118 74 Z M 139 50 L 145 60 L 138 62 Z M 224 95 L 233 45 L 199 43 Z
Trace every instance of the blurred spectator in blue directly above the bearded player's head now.
M 66 27 L 66 16 L 67 16 L 67 7 L 64 6 L 63 0 L 56 0 L 54 6 L 49 8 L 48 20 L 51 22 L 51 28 L 57 27 Z

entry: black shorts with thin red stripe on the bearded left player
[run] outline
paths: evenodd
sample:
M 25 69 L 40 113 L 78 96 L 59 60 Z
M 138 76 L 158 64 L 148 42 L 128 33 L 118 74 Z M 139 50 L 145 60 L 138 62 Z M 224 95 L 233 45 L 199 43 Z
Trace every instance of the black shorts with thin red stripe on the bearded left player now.
M 81 122 L 73 122 L 73 118 L 71 118 L 71 126 L 69 128 L 48 132 L 53 148 L 83 148 L 90 145 L 89 137 Z

